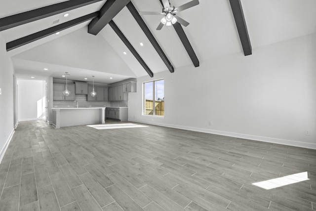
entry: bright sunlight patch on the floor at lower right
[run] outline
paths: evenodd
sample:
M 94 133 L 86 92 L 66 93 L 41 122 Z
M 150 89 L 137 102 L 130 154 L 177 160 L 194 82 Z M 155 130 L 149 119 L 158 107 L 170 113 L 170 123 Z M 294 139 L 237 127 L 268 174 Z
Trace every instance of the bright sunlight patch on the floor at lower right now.
M 261 187 L 266 190 L 270 190 L 273 188 L 278 188 L 284 185 L 290 185 L 297 182 L 302 182 L 305 180 L 309 180 L 307 171 L 301 172 L 301 173 L 294 173 L 291 175 L 275 178 L 275 179 L 269 179 L 261 182 L 255 182 L 252 183 L 255 186 Z

